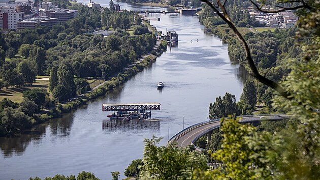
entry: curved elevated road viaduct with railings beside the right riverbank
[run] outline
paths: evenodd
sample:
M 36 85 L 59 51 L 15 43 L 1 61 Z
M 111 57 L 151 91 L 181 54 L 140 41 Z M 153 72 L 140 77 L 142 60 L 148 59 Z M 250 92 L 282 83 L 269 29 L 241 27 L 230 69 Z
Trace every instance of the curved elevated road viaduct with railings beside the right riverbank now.
M 251 122 L 262 122 L 262 121 L 278 121 L 284 118 L 292 117 L 292 115 L 285 114 L 261 114 L 261 115 L 246 115 L 239 116 L 239 123 L 251 123 Z M 169 139 L 168 143 L 176 143 L 178 147 L 186 147 L 187 145 L 194 145 L 194 142 L 200 137 L 208 134 L 207 140 L 211 140 L 211 134 L 214 129 L 220 127 L 221 118 L 210 120 L 209 122 L 202 122 L 180 131 L 172 138 Z M 195 145 L 194 145 L 195 146 Z M 198 151 L 205 150 L 203 148 L 195 146 Z

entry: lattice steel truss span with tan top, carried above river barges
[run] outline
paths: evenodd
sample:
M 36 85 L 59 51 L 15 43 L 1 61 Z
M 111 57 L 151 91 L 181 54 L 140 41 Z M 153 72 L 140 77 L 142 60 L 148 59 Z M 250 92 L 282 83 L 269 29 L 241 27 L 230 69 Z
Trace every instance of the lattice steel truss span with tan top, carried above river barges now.
M 102 111 L 160 110 L 160 103 L 102 104 Z

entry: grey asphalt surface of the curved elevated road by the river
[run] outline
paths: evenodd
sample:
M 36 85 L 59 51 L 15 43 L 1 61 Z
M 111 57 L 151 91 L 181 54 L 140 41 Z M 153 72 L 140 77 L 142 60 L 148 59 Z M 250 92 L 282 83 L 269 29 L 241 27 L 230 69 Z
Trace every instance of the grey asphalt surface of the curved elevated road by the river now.
M 283 118 L 291 117 L 290 115 L 261 115 L 261 116 L 250 116 L 250 117 L 242 117 L 240 123 L 246 122 L 255 122 L 255 121 L 274 121 L 280 120 Z M 199 126 L 193 128 L 186 128 L 184 131 L 176 134 L 177 138 L 173 138 L 171 143 L 177 143 L 178 147 L 186 147 L 190 145 L 198 136 L 203 134 L 205 131 L 210 129 L 215 129 L 220 126 L 220 121 L 208 122 L 201 124 Z

